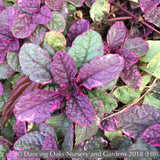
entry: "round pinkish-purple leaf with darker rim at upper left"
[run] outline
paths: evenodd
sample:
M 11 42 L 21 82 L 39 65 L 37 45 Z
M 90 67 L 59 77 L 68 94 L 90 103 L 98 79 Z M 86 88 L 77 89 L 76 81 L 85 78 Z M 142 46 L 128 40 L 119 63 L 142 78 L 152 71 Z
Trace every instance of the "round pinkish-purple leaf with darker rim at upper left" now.
M 12 33 L 16 38 L 27 38 L 36 29 L 37 24 L 33 23 L 32 17 L 20 14 L 14 21 Z

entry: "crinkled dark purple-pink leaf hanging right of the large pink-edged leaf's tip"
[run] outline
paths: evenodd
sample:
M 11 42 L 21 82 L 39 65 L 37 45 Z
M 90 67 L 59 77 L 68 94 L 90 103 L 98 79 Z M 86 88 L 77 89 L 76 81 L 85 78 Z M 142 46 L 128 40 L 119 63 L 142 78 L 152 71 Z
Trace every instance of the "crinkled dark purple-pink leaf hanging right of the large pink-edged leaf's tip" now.
M 139 89 L 141 86 L 141 75 L 136 65 L 124 67 L 120 73 L 121 79 L 131 88 Z

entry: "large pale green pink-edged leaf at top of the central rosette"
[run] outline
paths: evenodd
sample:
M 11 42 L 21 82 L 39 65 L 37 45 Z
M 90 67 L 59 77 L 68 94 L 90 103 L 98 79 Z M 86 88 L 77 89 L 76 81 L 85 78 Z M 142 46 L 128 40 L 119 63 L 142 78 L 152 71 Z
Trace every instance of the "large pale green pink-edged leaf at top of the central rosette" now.
M 93 30 L 88 30 L 77 36 L 72 43 L 68 54 L 75 60 L 76 67 L 104 54 L 102 38 Z

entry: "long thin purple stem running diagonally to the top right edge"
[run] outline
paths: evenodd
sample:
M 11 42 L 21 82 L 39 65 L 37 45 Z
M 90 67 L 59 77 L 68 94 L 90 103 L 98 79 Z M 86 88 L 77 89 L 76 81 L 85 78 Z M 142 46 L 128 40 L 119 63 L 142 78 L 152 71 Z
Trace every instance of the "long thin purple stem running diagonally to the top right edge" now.
M 155 29 L 154 27 L 152 27 L 151 25 L 149 25 L 148 23 L 146 23 L 145 21 L 140 20 L 137 16 L 133 15 L 133 13 L 127 11 L 125 8 L 121 7 L 120 5 L 116 4 L 115 2 L 110 2 L 111 5 L 116 6 L 117 8 L 121 9 L 122 11 L 126 12 L 127 14 L 129 14 L 131 17 L 133 17 L 134 19 L 136 19 L 137 21 L 141 22 L 142 24 L 144 24 L 145 26 L 149 27 L 150 29 L 152 29 L 153 31 L 157 32 L 158 34 L 160 34 L 160 31 L 158 31 L 157 29 Z

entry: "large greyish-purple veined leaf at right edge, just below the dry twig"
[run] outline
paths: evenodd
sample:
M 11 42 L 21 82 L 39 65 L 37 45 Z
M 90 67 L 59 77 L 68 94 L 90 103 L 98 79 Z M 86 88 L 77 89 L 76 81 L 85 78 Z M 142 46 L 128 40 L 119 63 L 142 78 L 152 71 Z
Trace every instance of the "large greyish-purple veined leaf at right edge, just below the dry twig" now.
M 115 119 L 126 135 L 137 139 L 146 128 L 160 123 L 160 109 L 149 105 L 135 105 L 116 115 Z

